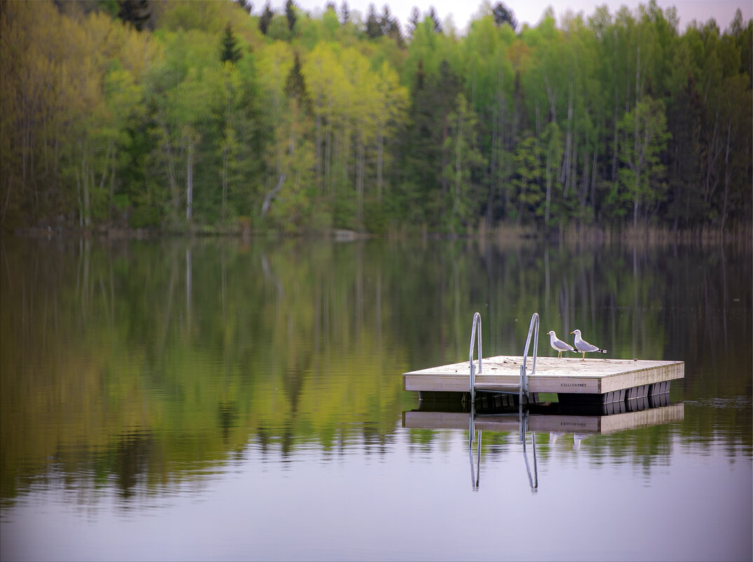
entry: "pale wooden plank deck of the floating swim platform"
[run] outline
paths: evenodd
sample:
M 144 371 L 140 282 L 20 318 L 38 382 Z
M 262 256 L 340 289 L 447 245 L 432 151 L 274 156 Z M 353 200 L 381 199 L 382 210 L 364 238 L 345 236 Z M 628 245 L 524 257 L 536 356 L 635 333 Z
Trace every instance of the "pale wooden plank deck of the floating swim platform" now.
M 517 394 L 521 356 L 482 359 L 475 389 Z M 532 358 L 526 362 L 532 369 Z M 617 402 L 669 392 L 672 380 L 684 377 L 684 362 L 639 359 L 581 359 L 538 357 L 536 373 L 529 376 L 529 393 L 556 393 L 559 401 L 598 400 Z M 425 392 L 469 392 L 468 361 L 409 371 L 403 389 Z

